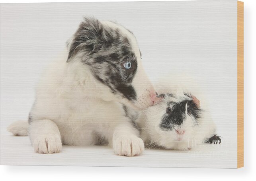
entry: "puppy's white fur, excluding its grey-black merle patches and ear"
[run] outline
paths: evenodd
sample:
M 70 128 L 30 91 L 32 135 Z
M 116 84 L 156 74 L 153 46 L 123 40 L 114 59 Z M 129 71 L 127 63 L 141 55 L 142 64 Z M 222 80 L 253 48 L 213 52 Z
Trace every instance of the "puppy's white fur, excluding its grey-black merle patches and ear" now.
M 149 107 L 152 105 L 150 92 L 154 92 L 154 88 L 143 70 L 135 37 L 120 25 L 101 22 L 119 29 L 132 44 L 137 57 L 132 86 L 138 99 L 133 103 L 114 95 L 82 65 L 82 52 L 73 57 L 72 63 L 66 63 L 66 51 L 50 65 L 37 86 L 30 112 L 33 121 L 29 124 L 29 136 L 37 153 L 58 153 L 62 144 L 108 144 L 120 156 L 136 156 L 144 150 L 139 131 L 125 117 L 120 103 L 133 109 Z M 16 132 L 12 128 L 10 131 Z

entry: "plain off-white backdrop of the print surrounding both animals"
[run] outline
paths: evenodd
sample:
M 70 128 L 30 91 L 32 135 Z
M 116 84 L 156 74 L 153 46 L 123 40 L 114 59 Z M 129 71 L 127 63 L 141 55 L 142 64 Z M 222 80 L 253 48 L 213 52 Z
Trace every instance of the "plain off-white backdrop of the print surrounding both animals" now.
M 176 154 L 164 157 L 170 152 L 154 153 L 157 166 L 190 167 L 235 167 L 236 166 L 236 1 L 213 2 L 125 2 L 125 3 L 68 3 L 68 4 L 1 4 L 0 59 L 1 59 L 1 163 L 13 164 L 13 158 L 23 158 L 21 148 L 15 144 L 18 139 L 10 137 L 6 127 L 16 120 L 25 120 L 33 104 L 34 87 L 41 71 L 64 49 L 65 41 L 74 33 L 82 16 L 94 15 L 99 19 L 111 19 L 131 29 L 136 35 L 143 53 L 143 64 L 152 81 L 159 76 L 186 74 L 197 78 L 197 86 L 209 98 L 210 110 L 217 124 L 223 143 L 215 152 L 182 153 L 180 162 Z M 172 78 L 173 79 L 173 78 Z M 7 140 L 6 140 L 7 139 Z M 17 139 L 17 140 L 16 140 Z M 23 139 L 23 138 L 22 138 Z M 25 138 L 24 138 L 25 139 Z M 24 140 L 25 141 L 25 140 Z M 3 146 L 4 144 L 4 146 Z M 18 150 L 17 150 L 18 148 Z M 34 160 L 33 149 L 25 150 L 23 164 L 39 163 Z M 70 154 L 78 148 L 64 147 Z M 81 149 L 81 148 L 79 148 Z M 98 147 L 96 149 L 99 149 Z M 92 152 L 90 159 L 95 165 L 108 163 L 112 152 L 99 149 Z M 211 153 L 207 153 L 211 151 Z M 8 155 L 12 153 L 12 155 Z M 29 155 L 31 153 L 31 155 Z M 82 149 L 80 152 L 86 156 Z M 94 154 L 107 154 L 104 161 Z M 194 154 L 190 154 L 194 153 Z M 205 154 L 211 156 L 205 157 Z M 63 152 L 65 154 L 65 152 Z M 68 154 L 68 153 L 67 153 Z M 164 154 L 164 155 L 165 155 Z M 2 158 L 8 160 L 2 160 Z M 38 156 L 37 159 L 42 156 Z M 47 156 L 48 157 L 48 156 Z M 57 163 L 53 155 L 51 162 Z M 139 166 L 145 155 L 131 158 L 116 158 L 109 163 Z M 174 158 L 177 158 L 176 160 Z M 81 159 L 81 158 L 80 158 Z M 89 158 L 83 158 L 89 159 Z M 127 159 L 120 162 L 120 159 Z M 153 159 L 153 158 L 152 158 Z M 162 159 L 162 160 L 161 160 Z M 204 161 L 204 159 L 207 160 Z M 70 160 L 61 159 L 67 165 Z M 82 159 L 81 159 L 82 160 Z M 147 159 L 146 159 L 147 160 Z M 197 163 L 197 160 L 200 162 Z M 79 157 L 78 161 L 79 162 Z M 91 162 L 92 163 L 92 162 Z M 219 166 L 216 166 L 219 163 Z M 85 165 L 85 164 L 84 164 Z M 199 166 L 202 165 L 202 166 Z M 144 165 L 145 166 L 145 165 Z M 159 165 L 160 166 L 160 165 Z

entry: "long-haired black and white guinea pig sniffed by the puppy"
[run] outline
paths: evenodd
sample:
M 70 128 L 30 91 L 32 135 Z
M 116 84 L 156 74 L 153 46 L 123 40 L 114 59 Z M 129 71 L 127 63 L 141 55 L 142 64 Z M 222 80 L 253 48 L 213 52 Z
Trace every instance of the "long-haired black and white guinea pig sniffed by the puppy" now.
M 190 150 L 204 142 L 221 143 L 211 116 L 191 93 L 162 93 L 136 120 L 146 147 Z

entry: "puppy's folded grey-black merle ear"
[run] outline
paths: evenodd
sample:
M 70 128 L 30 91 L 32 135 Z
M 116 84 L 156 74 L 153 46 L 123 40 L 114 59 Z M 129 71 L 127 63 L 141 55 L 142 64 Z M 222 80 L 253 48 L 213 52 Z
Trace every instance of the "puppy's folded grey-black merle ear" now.
M 84 53 L 91 54 L 97 51 L 100 47 L 100 43 L 104 41 L 103 35 L 103 25 L 102 23 L 92 17 L 84 17 L 82 23 L 80 23 L 72 41 L 68 42 L 68 59 L 78 53 L 79 51 L 84 51 Z

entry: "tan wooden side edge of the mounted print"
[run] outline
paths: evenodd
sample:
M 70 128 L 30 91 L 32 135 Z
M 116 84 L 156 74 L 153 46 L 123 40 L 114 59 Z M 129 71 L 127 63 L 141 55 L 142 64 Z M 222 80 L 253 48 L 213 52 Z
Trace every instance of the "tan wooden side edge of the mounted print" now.
M 244 3 L 237 1 L 237 168 L 244 166 Z

